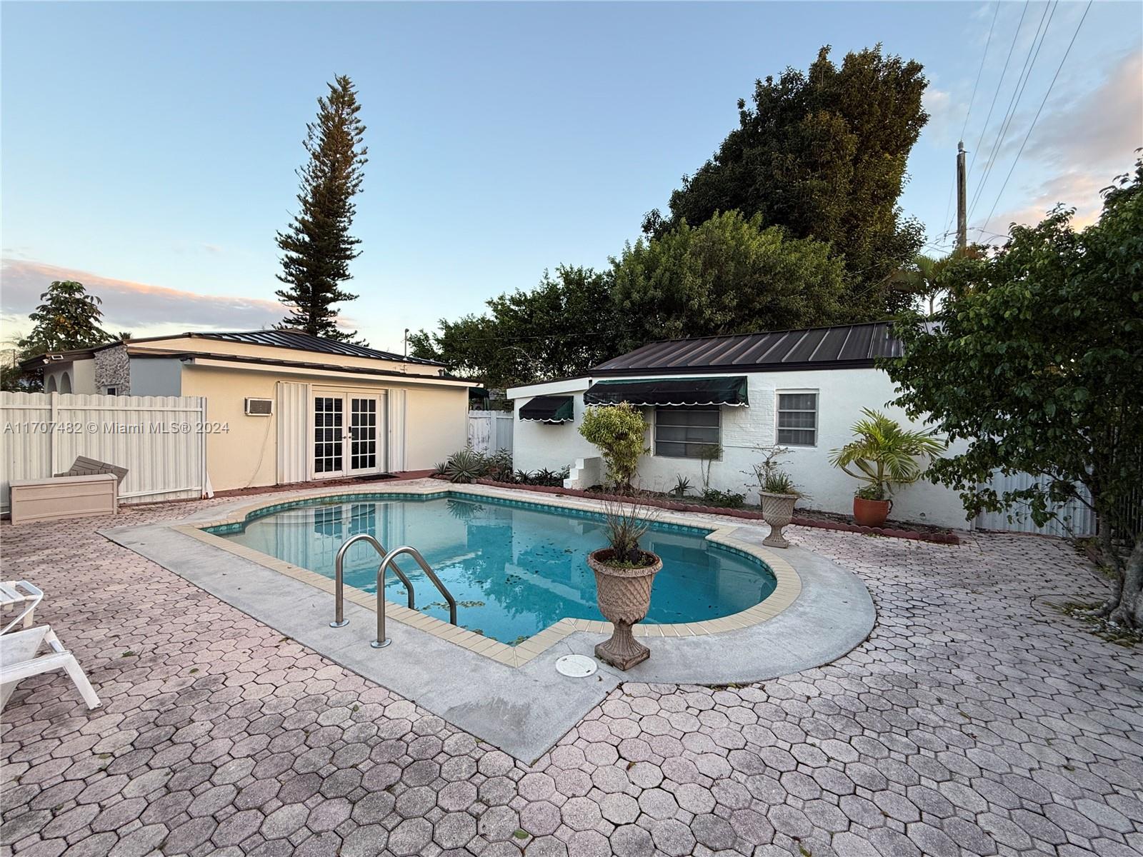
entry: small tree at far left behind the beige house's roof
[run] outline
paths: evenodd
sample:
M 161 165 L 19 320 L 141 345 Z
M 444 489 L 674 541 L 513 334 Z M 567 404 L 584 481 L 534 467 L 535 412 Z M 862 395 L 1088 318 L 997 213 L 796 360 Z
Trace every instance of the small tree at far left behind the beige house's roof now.
M 40 295 L 40 305 L 30 313 L 32 333 L 16 342 L 8 365 L 0 369 L 3 390 L 34 392 L 41 387 L 41 373 L 25 373 L 21 360 L 48 352 L 88 349 L 115 337 L 99 327 L 103 319 L 102 303 L 88 294 L 83 283 L 74 280 L 55 280 Z

